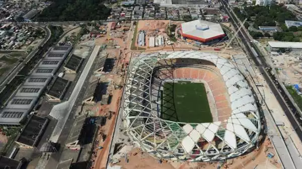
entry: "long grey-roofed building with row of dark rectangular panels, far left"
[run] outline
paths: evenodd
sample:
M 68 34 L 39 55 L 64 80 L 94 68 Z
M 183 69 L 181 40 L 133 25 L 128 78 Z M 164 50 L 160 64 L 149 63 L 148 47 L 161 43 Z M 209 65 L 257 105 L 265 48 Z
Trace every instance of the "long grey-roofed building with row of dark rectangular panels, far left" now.
M 71 49 L 71 46 L 54 46 L 50 49 L 8 100 L 6 106 L 0 110 L 0 125 L 19 126 L 25 121 Z

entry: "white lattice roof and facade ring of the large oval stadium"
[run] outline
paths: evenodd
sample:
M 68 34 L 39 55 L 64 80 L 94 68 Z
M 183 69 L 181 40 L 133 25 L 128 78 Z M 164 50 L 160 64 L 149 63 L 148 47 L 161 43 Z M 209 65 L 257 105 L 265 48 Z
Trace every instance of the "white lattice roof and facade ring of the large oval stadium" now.
M 211 123 L 184 123 L 160 118 L 156 101 L 162 82 L 154 81 L 153 71 L 161 61 L 197 59 L 208 61 L 219 70 L 230 97 L 232 112 L 226 120 Z M 173 66 L 190 67 L 188 63 Z M 204 65 L 194 64 L 200 68 Z M 186 79 L 188 81 L 189 79 Z M 141 100 L 144 100 L 142 102 Z M 256 101 L 244 76 L 228 60 L 198 51 L 141 54 L 129 65 L 123 93 L 125 131 L 140 147 L 157 157 L 172 160 L 210 161 L 239 156 L 253 148 L 261 130 Z M 198 142 L 205 140 L 205 144 Z M 221 140 L 221 145 L 216 140 Z

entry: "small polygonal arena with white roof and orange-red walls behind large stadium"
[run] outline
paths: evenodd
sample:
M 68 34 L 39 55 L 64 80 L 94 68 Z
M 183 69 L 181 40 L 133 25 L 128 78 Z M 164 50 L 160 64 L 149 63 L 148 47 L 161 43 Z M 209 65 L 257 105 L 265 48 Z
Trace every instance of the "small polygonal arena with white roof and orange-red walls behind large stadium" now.
M 200 42 L 207 42 L 225 36 L 219 24 L 203 20 L 182 23 L 181 35 Z

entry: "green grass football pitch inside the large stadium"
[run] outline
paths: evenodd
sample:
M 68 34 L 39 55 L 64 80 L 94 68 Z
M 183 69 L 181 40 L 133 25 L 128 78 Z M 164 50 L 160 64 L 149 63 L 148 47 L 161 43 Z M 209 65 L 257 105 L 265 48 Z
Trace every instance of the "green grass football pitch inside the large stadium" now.
M 177 122 L 213 122 L 203 83 L 166 82 L 161 91 L 161 118 Z

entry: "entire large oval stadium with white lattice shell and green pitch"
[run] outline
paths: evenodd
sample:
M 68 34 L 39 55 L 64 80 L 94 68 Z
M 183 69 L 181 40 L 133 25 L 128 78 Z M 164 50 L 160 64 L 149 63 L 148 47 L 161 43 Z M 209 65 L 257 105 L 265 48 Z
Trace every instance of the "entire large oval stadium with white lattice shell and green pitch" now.
M 122 99 L 125 131 L 158 158 L 212 161 L 257 143 L 261 122 L 250 86 L 215 54 L 141 54 L 129 64 Z

